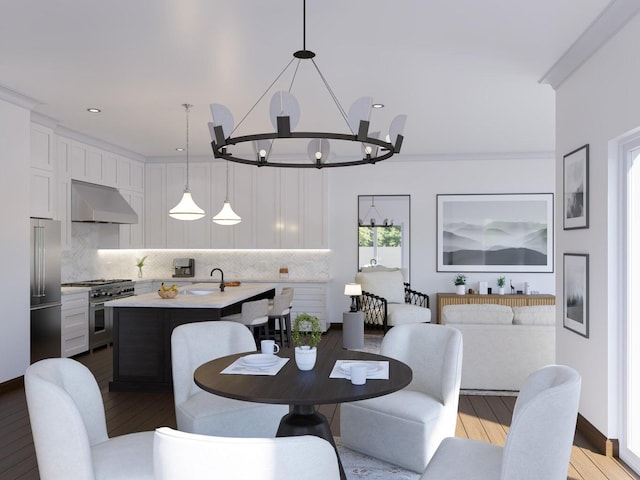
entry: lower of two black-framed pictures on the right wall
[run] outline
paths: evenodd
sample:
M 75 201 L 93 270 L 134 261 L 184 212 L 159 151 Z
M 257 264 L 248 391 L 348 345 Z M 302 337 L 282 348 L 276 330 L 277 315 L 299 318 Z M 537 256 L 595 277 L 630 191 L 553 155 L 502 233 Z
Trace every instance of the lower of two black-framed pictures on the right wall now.
M 589 255 L 565 253 L 563 270 L 563 326 L 589 338 Z

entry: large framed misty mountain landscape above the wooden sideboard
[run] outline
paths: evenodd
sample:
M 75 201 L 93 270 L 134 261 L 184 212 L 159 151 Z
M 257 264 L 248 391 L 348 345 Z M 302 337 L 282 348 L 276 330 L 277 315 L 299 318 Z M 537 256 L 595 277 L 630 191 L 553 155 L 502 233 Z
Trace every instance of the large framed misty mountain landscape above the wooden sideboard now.
M 553 194 L 437 195 L 437 271 L 553 272 Z

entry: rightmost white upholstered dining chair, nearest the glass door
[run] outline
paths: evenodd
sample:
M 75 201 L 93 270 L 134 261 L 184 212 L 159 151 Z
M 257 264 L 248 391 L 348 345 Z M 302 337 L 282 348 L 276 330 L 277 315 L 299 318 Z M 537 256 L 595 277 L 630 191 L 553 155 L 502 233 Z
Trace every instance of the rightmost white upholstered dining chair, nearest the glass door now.
M 578 372 L 564 365 L 532 373 L 520 389 L 504 448 L 446 438 L 421 480 L 565 480 L 580 384 Z

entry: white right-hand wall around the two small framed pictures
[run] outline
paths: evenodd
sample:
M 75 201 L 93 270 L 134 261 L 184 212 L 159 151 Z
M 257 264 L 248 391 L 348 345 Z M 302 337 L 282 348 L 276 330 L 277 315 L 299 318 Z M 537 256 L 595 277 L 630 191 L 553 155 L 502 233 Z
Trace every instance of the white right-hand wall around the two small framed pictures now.
M 562 192 L 562 157 L 589 144 L 589 228 L 562 231 L 557 225 L 557 255 L 565 252 L 589 254 L 589 338 L 562 328 L 556 336 L 557 360 L 582 374 L 580 413 L 608 438 L 616 438 L 618 360 L 616 232 L 611 232 L 617 192 L 610 174 L 609 142 L 640 126 L 640 17 L 636 16 L 609 42 L 567 79 L 556 92 L 556 192 Z M 614 169 L 615 170 L 615 169 Z M 608 186 L 611 185 L 611 187 Z M 556 209 L 558 215 L 561 210 Z M 613 234 L 613 236 L 611 235 Z M 558 297 L 562 298 L 561 263 L 557 274 Z

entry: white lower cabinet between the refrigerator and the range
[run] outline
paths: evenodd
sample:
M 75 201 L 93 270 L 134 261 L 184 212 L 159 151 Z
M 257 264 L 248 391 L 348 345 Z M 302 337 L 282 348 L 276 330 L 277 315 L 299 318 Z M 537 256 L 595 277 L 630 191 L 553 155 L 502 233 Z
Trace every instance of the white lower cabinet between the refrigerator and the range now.
M 63 293 L 61 342 L 63 357 L 89 350 L 89 292 Z

